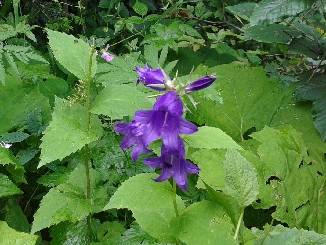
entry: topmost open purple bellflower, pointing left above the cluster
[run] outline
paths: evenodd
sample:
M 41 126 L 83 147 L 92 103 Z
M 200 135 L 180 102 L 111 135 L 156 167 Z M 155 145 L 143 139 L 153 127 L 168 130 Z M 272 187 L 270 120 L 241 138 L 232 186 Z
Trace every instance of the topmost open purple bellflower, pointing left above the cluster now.
M 162 85 L 166 83 L 164 75 L 161 70 L 153 70 L 148 67 L 147 63 L 145 64 L 145 69 L 136 66 L 137 73 L 141 76 L 137 80 L 137 85 L 141 82 L 142 84 L 146 85 L 155 85 L 159 84 Z M 165 73 L 167 77 L 171 80 L 170 76 Z M 151 89 L 158 90 L 158 91 L 165 91 L 165 88 L 159 88 L 155 86 L 148 86 Z

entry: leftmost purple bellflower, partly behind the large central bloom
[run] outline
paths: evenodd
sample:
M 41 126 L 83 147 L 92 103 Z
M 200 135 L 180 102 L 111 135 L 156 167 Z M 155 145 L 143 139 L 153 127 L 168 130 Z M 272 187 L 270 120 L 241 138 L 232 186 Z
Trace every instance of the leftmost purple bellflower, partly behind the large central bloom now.
M 114 125 L 114 130 L 120 134 L 126 134 L 125 137 L 121 140 L 120 147 L 121 149 L 129 148 L 130 146 L 135 145 L 132 148 L 132 160 L 136 162 L 139 155 L 142 152 L 150 153 L 152 150 L 146 148 L 142 143 L 142 135 L 146 125 L 133 122 L 133 123 L 120 123 L 117 122 Z

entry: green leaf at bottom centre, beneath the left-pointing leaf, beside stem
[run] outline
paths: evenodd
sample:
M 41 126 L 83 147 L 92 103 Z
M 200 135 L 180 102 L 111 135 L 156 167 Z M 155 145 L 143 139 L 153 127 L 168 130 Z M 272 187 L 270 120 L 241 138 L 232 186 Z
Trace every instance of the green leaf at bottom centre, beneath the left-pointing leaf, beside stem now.
M 153 200 L 155 202 L 155 200 Z M 153 202 L 148 200 L 148 202 Z M 185 209 L 185 204 L 179 196 L 176 196 L 178 212 Z M 155 205 L 155 204 L 154 204 Z M 176 237 L 170 228 L 170 220 L 175 217 L 173 203 L 166 204 L 165 207 L 157 210 L 132 209 L 133 217 L 145 231 L 157 238 L 161 242 L 176 243 Z

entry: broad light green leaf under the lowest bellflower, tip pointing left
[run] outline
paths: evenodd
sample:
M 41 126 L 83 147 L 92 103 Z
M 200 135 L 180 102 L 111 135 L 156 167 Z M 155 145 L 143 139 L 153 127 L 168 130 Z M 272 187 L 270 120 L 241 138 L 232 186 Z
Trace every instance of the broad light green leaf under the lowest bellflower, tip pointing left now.
M 156 210 L 175 200 L 169 182 L 155 182 L 155 173 L 141 173 L 127 179 L 111 197 L 103 210 L 110 208 L 128 208 L 129 210 Z M 153 202 L 148 203 L 148 200 Z

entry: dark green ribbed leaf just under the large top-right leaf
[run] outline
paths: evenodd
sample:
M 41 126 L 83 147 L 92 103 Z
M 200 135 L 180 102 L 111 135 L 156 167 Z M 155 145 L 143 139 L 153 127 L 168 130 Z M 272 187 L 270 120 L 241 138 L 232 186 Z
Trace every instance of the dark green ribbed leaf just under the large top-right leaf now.
M 288 34 L 287 34 L 288 33 Z M 301 31 L 283 24 L 270 24 L 268 26 L 256 25 L 245 30 L 244 38 L 259 42 L 287 43 L 293 37 L 301 35 Z

